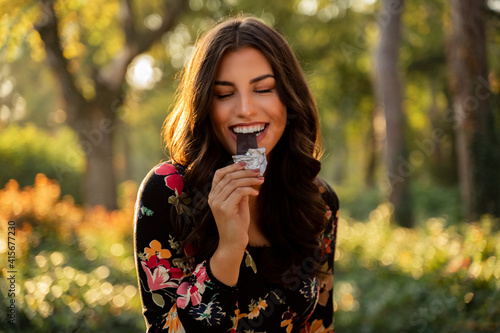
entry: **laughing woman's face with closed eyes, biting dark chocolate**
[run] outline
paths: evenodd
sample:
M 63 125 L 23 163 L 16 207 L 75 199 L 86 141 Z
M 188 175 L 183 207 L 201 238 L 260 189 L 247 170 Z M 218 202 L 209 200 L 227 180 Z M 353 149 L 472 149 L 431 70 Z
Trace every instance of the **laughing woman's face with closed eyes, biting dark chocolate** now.
M 217 138 L 236 154 L 236 133 L 257 133 L 259 148 L 271 153 L 286 126 L 286 106 L 264 54 L 252 47 L 226 53 L 215 75 L 210 119 Z

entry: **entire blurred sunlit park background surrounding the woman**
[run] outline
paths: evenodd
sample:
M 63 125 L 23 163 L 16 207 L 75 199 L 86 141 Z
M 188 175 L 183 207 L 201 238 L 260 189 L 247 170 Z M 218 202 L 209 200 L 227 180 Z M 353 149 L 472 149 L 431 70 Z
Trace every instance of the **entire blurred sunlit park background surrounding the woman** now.
M 240 12 L 317 98 L 336 331 L 499 332 L 498 0 L 0 0 L 0 332 L 144 331 L 138 185 L 197 36 Z

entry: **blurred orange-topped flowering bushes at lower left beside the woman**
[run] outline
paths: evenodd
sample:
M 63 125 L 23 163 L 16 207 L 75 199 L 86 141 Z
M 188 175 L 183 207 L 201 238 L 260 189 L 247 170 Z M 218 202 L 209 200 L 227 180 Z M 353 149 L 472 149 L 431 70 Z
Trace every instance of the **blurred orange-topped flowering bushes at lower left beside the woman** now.
M 56 181 L 38 174 L 33 187 L 10 180 L 0 190 L 0 230 L 16 222 L 17 330 L 3 319 L 0 331 L 141 332 L 144 320 L 133 255 L 137 186 L 121 186 L 120 210 L 83 210 L 60 198 Z M 7 237 L 0 239 L 0 314 L 7 309 Z

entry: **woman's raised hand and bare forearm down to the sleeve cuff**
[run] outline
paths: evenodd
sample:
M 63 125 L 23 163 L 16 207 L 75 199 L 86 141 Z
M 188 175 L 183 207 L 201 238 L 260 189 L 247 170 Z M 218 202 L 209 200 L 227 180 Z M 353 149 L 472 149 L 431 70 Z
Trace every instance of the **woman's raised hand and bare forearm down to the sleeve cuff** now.
M 245 170 L 235 163 L 215 172 L 208 204 L 219 231 L 219 245 L 210 259 L 212 274 L 220 282 L 234 286 L 248 244 L 250 226 L 249 197 L 259 195 L 252 186 L 264 182 L 259 170 Z

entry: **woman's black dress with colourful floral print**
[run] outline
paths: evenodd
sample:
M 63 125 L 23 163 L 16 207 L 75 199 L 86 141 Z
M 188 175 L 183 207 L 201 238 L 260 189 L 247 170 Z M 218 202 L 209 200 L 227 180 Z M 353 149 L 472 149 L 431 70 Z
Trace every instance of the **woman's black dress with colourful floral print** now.
M 135 254 L 148 332 L 333 332 L 333 260 L 338 199 L 324 182 L 328 227 L 318 239 L 327 272 L 321 279 L 284 274 L 286 287 L 267 282 L 259 260 L 265 248 L 247 246 L 237 286 L 219 282 L 207 261 L 185 261 L 172 227 L 176 214 L 192 217 L 181 172 L 172 164 L 154 168 L 139 190 L 135 212 Z

